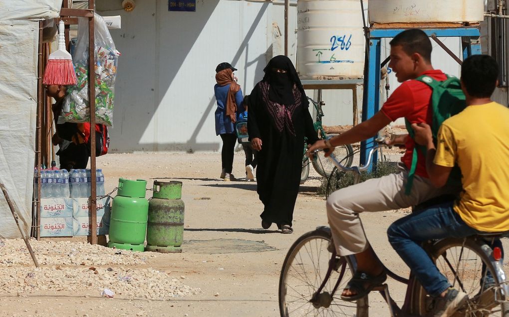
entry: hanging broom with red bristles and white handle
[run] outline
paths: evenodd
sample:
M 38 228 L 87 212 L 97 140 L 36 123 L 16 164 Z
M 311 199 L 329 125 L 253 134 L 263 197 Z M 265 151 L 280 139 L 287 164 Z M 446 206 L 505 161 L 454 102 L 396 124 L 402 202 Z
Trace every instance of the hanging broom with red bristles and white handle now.
M 59 49 L 48 57 L 42 82 L 45 85 L 76 85 L 72 57 L 65 49 L 64 21 L 59 25 Z

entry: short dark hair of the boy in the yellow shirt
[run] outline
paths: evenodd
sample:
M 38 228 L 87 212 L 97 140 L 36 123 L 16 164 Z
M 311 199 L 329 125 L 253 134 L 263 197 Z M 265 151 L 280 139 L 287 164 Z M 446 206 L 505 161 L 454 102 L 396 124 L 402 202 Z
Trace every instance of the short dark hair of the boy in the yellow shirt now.
M 473 55 L 461 65 L 461 80 L 469 95 L 489 98 L 498 79 L 498 63 L 490 55 Z

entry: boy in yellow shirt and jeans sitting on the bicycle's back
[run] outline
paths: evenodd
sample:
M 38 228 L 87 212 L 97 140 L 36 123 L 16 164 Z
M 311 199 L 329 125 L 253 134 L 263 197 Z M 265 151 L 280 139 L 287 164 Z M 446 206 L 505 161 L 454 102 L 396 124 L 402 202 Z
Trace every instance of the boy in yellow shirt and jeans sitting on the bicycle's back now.
M 394 250 L 435 297 L 435 316 L 452 315 L 468 296 L 451 288 L 421 243 L 509 230 L 509 195 L 504 193 L 509 188 L 509 109 L 491 100 L 497 78 L 497 62 L 488 55 L 463 62 L 461 83 L 468 107 L 443 122 L 436 148 L 430 126 L 412 124 L 416 142 L 428 149 L 426 169 L 436 187 L 445 185 L 455 164 L 462 172 L 457 201 L 406 216 L 387 230 Z

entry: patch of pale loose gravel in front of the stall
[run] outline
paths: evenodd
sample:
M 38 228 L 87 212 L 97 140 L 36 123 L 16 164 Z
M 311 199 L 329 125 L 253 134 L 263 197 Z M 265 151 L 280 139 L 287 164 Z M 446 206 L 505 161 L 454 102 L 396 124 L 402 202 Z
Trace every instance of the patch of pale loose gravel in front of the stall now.
M 197 294 L 200 289 L 182 284 L 169 272 L 136 268 L 155 258 L 155 253 L 105 248 L 82 242 L 31 240 L 40 268 L 33 267 L 23 240 L 0 241 L 0 294 L 39 291 L 101 294 L 106 288 L 115 297 L 127 299 L 167 299 Z

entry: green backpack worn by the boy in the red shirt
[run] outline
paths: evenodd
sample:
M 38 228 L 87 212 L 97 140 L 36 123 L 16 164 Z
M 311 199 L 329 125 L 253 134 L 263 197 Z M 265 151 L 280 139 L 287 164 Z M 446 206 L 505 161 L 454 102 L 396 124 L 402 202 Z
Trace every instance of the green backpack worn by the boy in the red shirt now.
M 433 142 L 437 145 L 438 129 L 446 119 L 459 114 L 466 108 L 465 94 L 461 90 L 460 80 L 456 77 L 447 75 L 444 81 L 437 81 L 430 76 L 423 75 L 415 80 L 427 84 L 433 90 L 431 94 L 431 105 L 433 107 L 433 118 L 431 124 L 431 132 L 433 134 Z M 411 123 L 405 119 L 408 134 L 414 138 L 414 130 Z M 415 168 L 417 166 L 417 151 L 421 151 L 426 156 L 426 147 L 415 144 L 412 154 L 412 165 L 408 173 L 408 181 L 405 188 L 405 194 L 409 195 L 412 189 L 413 179 L 415 176 Z M 461 171 L 455 166 L 449 175 L 448 184 L 461 184 Z

